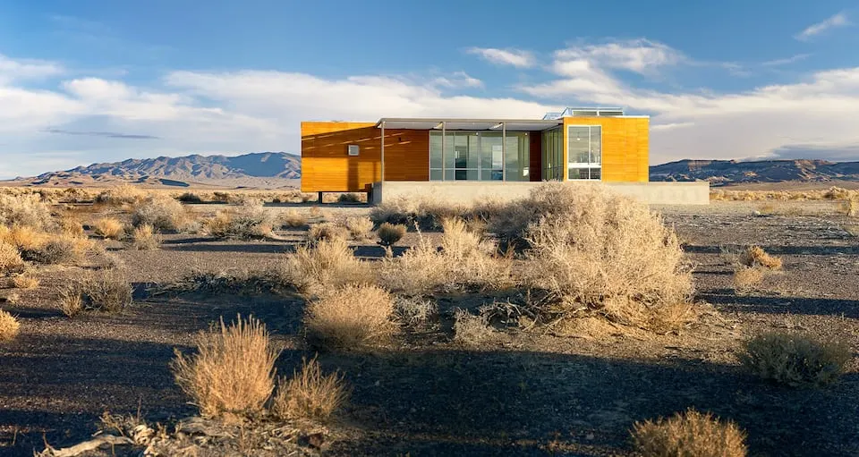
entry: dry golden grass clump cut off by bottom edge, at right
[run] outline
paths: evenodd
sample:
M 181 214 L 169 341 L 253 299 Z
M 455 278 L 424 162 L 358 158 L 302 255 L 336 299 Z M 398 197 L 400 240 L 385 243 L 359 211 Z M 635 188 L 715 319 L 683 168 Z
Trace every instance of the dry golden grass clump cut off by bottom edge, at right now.
M 656 457 L 745 457 L 745 433 L 732 421 L 689 409 L 655 422 L 633 426 L 633 443 L 641 455 Z

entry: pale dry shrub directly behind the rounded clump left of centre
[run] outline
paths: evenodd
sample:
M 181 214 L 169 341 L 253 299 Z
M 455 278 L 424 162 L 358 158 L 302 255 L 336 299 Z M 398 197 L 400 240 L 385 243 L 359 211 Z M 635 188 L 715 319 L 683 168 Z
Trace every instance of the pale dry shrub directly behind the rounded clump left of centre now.
M 373 284 L 370 266 L 344 240 L 320 241 L 315 246 L 299 246 L 285 260 L 287 280 L 301 291 L 319 295 L 345 284 Z

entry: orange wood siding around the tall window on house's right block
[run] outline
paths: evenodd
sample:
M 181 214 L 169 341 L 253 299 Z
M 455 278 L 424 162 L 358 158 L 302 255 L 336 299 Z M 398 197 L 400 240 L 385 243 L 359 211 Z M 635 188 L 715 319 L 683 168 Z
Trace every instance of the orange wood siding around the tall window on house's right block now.
M 602 181 L 648 182 L 650 119 L 647 117 L 565 117 L 564 163 L 567 163 L 567 128 L 570 125 L 602 127 Z M 564 167 L 564 178 L 567 168 Z

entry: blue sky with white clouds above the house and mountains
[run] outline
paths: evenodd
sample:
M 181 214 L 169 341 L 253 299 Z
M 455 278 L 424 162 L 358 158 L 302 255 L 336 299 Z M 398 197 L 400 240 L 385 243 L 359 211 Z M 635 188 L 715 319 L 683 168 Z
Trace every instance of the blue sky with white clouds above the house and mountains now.
M 565 106 L 650 115 L 651 165 L 859 160 L 857 24 L 834 0 L 0 0 L 0 179 Z

